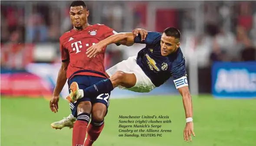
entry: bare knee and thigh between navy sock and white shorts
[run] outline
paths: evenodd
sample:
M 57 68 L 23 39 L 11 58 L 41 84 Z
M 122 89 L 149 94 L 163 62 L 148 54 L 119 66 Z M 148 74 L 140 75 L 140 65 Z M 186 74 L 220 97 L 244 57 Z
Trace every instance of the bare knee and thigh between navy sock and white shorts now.
M 125 88 L 131 88 L 135 86 L 137 81 L 135 74 L 127 73 L 124 71 L 116 71 L 115 74 L 112 75 L 109 79 L 112 82 L 114 88 L 119 85 Z

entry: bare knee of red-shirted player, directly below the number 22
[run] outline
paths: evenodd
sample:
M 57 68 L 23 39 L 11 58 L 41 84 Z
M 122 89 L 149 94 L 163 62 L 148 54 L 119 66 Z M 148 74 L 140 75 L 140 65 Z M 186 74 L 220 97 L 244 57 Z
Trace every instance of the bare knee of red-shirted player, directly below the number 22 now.
M 102 103 L 95 103 L 92 105 L 92 119 L 95 122 L 100 122 L 104 120 L 104 117 L 107 112 L 107 107 Z

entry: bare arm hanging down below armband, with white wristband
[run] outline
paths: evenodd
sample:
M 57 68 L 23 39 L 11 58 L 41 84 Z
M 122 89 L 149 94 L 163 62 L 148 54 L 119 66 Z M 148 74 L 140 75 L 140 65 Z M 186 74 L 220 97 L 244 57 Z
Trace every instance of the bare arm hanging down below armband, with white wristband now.
M 190 95 L 190 91 L 188 86 L 184 86 L 181 88 L 178 88 L 178 91 L 180 92 L 183 100 L 183 105 L 185 109 L 185 114 L 186 114 L 186 127 L 184 129 L 184 141 L 192 141 L 191 134 L 195 136 L 194 133 L 194 124 L 193 124 L 193 107 L 192 107 L 192 98 Z

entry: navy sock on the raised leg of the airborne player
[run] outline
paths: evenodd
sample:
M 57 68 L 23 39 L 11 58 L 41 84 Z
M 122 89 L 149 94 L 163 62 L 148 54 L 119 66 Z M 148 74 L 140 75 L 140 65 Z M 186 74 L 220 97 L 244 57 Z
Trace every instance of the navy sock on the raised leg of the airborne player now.
M 113 84 L 110 81 L 110 79 L 106 79 L 106 80 L 102 80 L 99 81 L 98 83 L 86 88 L 86 89 L 82 89 L 83 90 L 83 94 L 84 97 L 95 97 L 99 94 L 104 94 L 104 93 L 108 93 L 110 91 L 112 91 L 113 88 Z

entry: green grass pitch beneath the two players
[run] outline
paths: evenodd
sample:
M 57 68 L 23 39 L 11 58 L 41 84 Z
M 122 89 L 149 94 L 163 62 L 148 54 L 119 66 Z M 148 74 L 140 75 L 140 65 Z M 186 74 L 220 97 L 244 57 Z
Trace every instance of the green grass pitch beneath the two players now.
M 94 146 L 255 146 L 256 100 L 193 99 L 192 143 L 183 140 L 185 127 L 181 96 L 112 99 L 105 127 Z M 72 130 L 54 130 L 50 123 L 70 114 L 67 101 L 59 102 L 59 112 L 49 109 L 44 98 L 1 97 L 1 146 L 71 146 Z M 119 137 L 119 115 L 168 115 L 162 137 Z

